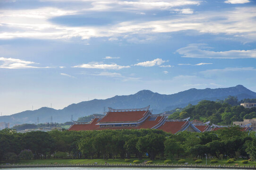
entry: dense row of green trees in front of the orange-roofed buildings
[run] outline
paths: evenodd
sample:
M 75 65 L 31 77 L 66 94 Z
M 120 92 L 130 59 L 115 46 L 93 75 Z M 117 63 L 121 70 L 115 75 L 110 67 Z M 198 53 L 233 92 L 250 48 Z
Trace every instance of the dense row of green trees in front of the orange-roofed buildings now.
M 198 158 L 205 153 L 218 159 L 242 156 L 256 160 L 255 134 L 239 127 L 205 133 L 184 131 L 177 135 L 157 129 L 0 131 L 0 160 L 145 157 L 165 160 Z

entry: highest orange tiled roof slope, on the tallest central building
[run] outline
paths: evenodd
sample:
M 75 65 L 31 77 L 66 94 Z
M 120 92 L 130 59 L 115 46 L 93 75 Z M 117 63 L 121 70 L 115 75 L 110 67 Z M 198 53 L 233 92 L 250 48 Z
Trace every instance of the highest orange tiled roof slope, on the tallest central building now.
M 128 122 L 128 121 L 138 121 L 142 119 L 149 111 L 111 111 L 102 118 L 99 123 L 102 122 Z

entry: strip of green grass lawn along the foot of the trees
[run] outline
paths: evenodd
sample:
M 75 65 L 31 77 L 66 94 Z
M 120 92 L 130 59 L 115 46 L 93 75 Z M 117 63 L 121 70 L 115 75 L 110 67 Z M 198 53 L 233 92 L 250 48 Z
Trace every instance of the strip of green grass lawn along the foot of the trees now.
M 94 162 L 98 162 L 98 164 L 104 164 L 105 162 L 107 163 L 119 163 L 119 164 L 124 164 L 124 163 L 132 163 L 134 160 L 137 159 L 130 159 L 129 162 L 125 162 L 124 159 L 108 159 L 108 160 L 103 160 L 103 159 L 38 159 L 38 160 L 18 160 L 18 161 L 0 161 L 0 164 L 2 163 L 15 163 L 15 164 L 54 164 L 54 163 L 58 163 L 58 164 L 87 164 L 87 163 L 94 163 Z M 195 161 L 193 161 L 192 159 L 185 159 L 186 162 L 188 162 L 188 164 L 195 164 Z M 140 162 L 144 162 L 144 161 L 149 161 L 149 159 L 143 159 L 140 160 Z M 209 160 L 207 160 L 207 164 L 208 165 L 231 165 L 234 166 L 235 164 L 239 164 L 240 166 L 253 166 L 256 165 L 256 162 L 248 162 L 247 164 L 243 164 L 242 161 L 243 159 L 239 159 L 238 161 L 235 161 L 234 163 L 226 163 L 227 160 L 218 160 L 218 162 L 216 163 L 210 163 Z M 164 161 L 163 160 L 154 160 L 153 163 L 155 164 L 162 164 Z M 177 160 L 173 160 L 171 161 L 171 163 L 176 164 L 178 163 Z M 179 164 L 179 163 L 178 163 Z M 197 164 L 201 164 L 201 163 L 197 163 Z M 205 160 L 203 160 L 202 165 L 205 164 Z

